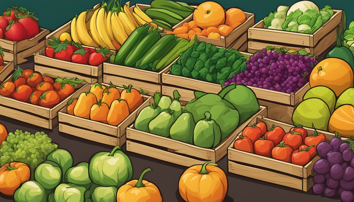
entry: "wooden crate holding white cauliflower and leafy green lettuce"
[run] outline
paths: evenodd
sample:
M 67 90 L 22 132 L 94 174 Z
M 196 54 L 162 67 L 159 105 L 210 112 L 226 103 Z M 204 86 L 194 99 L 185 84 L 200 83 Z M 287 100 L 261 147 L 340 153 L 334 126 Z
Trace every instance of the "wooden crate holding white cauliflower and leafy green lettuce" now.
M 248 29 L 248 52 L 262 50 L 266 46 L 280 46 L 305 50 L 319 56 L 336 43 L 336 30 L 342 26 L 342 10 L 333 10 L 334 15 L 313 34 L 267 29 L 263 20 Z

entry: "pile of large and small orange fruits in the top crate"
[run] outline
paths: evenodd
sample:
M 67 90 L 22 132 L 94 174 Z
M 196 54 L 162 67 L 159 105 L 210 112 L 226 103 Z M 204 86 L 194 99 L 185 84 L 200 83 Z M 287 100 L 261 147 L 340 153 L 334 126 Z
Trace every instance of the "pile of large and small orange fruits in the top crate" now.
M 194 35 L 220 39 L 221 36 L 229 35 L 233 29 L 245 21 L 246 14 L 240 8 L 224 10 L 217 2 L 206 1 L 195 8 L 192 21 L 183 23 L 181 27 L 173 31 L 165 31 L 166 34 L 176 34 L 178 37 L 189 40 Z

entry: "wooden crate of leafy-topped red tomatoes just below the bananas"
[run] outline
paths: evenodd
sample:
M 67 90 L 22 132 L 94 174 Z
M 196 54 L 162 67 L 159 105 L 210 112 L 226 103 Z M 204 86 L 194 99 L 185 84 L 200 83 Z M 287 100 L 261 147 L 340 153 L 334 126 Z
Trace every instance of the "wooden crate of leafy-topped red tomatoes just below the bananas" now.
M 35 71 L 46 72 L 51 77 L 77 77 L 87 83 L 102 83 L 102 67 L 103 64 L 92 66 L 50 58 L 44 50 L 34 55 Z

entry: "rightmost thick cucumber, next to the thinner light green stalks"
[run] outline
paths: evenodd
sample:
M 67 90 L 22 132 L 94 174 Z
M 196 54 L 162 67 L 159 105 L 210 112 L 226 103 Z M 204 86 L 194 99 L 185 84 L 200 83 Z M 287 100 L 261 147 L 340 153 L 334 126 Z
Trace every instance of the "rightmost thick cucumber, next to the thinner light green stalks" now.
M 154 62 L 155 60 L 165 57 L 173 47 L 176 45 L 176 36 L 173 34 L 167 34 L 162 36 L 153 47 L 140 59 L 140 65 Z M 139 61 L 138 61 L 139 62 Z

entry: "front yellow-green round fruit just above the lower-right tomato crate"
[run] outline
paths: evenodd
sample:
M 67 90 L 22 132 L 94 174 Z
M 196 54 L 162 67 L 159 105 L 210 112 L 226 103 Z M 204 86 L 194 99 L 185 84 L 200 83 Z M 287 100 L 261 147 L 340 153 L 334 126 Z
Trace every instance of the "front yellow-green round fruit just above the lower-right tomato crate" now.
M 312 128 L 313 124 L 316 129 L 327 131 L 330 116 L 330 109 L 323 100 L 309 98 L 297 105 L 292 114 L 292 122 L 295 126 L 302 125 L 309 128 Z

